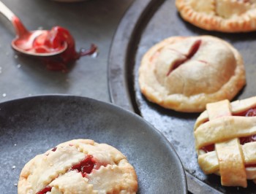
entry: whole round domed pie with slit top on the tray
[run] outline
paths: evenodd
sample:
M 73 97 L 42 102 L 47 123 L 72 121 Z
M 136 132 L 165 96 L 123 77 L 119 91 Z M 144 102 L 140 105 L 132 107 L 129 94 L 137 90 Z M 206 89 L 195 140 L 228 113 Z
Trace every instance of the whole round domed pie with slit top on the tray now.
M 231 99 L 245 84 L 238 51 L 214 36 L 173 36 L 143 56 L 140 90 L 167 109 L 202 112 L 209 102 Z

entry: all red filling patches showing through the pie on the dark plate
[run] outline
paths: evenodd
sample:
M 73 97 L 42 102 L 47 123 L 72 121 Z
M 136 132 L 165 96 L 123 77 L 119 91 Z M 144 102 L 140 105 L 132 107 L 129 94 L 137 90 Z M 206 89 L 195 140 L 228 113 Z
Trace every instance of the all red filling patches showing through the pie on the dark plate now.
M 57 148 L 54 147 L 52 151 L 55 152 L 56 149 Z M 92 155 L 86 155 L 86 158 L 84 160 L 80 161 L 80 163 L 75 164 L 74 166 L 69 168 L 69 171 L 78 171 L 83 177 L 85 177 L 86 174 L 91 173 L 91 171 L 95 168 L 96 164 L 97 164 L 96 160 L 94 160 L 94 157 Z M 46 186 L 45 188 L 37 192 L 37 194 L 45 194 L 51 191 L 51 189 L 52 187 Z

